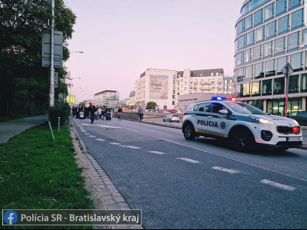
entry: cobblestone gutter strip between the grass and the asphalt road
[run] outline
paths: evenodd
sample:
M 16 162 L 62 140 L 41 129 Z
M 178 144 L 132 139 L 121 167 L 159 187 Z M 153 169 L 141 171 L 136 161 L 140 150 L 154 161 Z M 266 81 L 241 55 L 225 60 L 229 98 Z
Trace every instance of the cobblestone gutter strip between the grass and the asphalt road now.
M 96 209 L 130 209 L 125 199 L 110 181 L 108 175 L 89 154 L 80 135 L 70 119 L 70 133 L 75 148 L 76 163 L 83 168 L 82 176 L 85 179 L 85 188 L 90 192 Z M 100 225 L 95 229 L 143 229 L 142 226 L 132 225 Z

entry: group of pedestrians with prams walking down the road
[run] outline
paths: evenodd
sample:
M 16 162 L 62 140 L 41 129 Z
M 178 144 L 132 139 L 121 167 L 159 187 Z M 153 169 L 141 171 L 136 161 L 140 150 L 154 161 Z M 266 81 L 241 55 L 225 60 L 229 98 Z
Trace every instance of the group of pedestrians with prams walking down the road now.
M 82 118 L 80 117 L 80 112 L 82 112 Z M 111 117 L 113 117 L 114 109 L 113 107 L 107 106 L 105 109 L 100 106 L 95 106 L 92 103 L 89 103 L 89 107 L 85 106 L 73 106 L 72 114 L 73 117 L 76 116 L 76 119 L 85 119 L 90 118 L 91 124 L 94 123 L 95 114 L 97 115 L 97 119 L 104 120 L 106 113 L 111 113 Z

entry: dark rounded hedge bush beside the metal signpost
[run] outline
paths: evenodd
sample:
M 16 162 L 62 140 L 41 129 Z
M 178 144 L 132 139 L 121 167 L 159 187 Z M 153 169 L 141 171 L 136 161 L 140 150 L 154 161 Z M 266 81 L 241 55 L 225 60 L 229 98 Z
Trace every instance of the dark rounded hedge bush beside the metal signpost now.
M 49 119 L 51 126 L 57 126 L 58 117 L 60 117 L 60 126 L 65 124 L 70 116 L 70 106 L 67 102 L 63 103 L 60 101 L 55 101 L 54 106 L 49 108 Z

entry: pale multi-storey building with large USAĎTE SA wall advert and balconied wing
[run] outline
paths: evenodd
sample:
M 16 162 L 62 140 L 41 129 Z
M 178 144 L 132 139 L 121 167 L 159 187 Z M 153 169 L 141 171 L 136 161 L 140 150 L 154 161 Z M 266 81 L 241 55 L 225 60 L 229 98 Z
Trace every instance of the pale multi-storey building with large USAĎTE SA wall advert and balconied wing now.
M 229 77 L 229 76 L 228 76 Z M 178 109 L 178 96 L 194 93 L 233 94 L 232 80 L 223 69 L 184 71 L 147 69 L 136 81 L 135 104 L 156 102 L 159 109 Z M 226 85 L 225 85 L 226 83 Z

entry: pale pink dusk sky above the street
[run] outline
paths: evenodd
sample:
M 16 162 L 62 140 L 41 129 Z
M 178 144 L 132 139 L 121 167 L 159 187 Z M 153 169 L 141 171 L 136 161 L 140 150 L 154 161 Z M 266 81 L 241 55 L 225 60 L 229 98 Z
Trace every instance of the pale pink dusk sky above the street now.
M 244 0 L 64 0 L 77 16 L 65 67 L 78 101 L 103 90 L 128 98 L 148 68 L 224 68 L 233 76 L 234 27 Z M 77 98 L 76 98 L 77 100 Z

